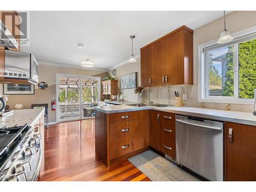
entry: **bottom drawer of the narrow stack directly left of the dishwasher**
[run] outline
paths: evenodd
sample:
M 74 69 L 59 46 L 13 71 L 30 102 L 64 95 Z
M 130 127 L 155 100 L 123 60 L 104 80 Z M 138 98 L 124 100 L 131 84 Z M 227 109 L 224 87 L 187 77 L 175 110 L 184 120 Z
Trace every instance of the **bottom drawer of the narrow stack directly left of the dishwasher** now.
M 175 159 L 175 138 L 161 138 L 161 152 Z

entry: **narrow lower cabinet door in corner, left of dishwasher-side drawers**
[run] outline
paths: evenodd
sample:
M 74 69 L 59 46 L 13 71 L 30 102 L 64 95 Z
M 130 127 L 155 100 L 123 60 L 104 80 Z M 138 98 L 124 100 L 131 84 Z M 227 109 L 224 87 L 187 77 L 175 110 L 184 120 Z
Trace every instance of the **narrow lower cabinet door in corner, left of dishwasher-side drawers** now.
M 150 111 L 150 146 L 160 151 L 161 120 L 159 111 Z

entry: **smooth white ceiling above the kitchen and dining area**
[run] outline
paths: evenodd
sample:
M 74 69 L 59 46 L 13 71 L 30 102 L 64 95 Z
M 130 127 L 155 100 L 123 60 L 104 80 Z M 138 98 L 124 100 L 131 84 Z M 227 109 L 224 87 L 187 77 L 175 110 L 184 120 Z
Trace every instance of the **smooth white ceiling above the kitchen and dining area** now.
M 38 61 L 78 67 L 89 58 L 106 70 L 129 59 L 132 34 L 138 56 L 141 47 L 182 25 L 196 29 L 222 16 L 222 11 L 31 11 L 30 46 L 21 49 Z M 77 48 L 80 42 L 84 49 Z

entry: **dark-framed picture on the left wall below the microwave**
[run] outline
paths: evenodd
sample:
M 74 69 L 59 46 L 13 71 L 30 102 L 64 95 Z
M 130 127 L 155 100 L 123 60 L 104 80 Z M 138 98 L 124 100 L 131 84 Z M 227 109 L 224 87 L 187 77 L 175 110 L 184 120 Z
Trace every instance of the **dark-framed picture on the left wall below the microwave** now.
M 9 84 L 4 83 L 4 95 L 34 95 L 35 87 L 33 84 Z

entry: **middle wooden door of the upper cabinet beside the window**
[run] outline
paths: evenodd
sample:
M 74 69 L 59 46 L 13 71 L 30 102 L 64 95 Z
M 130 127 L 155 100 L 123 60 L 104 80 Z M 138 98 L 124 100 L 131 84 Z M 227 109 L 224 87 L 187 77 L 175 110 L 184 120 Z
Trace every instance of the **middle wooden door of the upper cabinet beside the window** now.
M 152 49 L 152 84 L 151 86 L 164 86 L 165 76 L 165 39 L 151 46 Z

